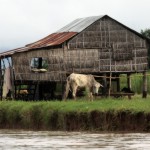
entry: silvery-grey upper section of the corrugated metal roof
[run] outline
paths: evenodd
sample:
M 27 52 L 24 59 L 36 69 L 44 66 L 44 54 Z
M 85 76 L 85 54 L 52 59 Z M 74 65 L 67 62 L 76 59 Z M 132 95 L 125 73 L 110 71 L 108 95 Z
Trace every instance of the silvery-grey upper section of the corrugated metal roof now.
M 95 21 L 97 21 L 98 19 L 100 19 L 102 17 L 104 17 L 104 16 L 93 16 L 93 17 L 79 18 L 79 19 L 72 21 L 71 23 L 69 23 L 68 25 L 66 25 L 65 27 L 61 28 L 60 30 L 58 30 L 56 32 L 57 33 L 60 33 L 60 32 L 81 32 L 82 30 L 84 30 L 85 28 L 87 28 L 92 23 L 94 23 Z

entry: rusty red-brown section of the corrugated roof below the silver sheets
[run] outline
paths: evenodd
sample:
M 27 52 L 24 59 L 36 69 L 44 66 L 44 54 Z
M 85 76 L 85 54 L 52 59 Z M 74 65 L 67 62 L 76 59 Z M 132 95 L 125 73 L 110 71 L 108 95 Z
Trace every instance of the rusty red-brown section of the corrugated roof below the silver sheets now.
M 59 45 L 65 42 L 66 40 L 70 39 L 76 34 L 77 34 L 76 32 L 53 33 L 35 43 L 29 44 L 26 46 L 28 46 L 30 49 L 33 49 L 33 48 L 41 48 L 41 47 Z

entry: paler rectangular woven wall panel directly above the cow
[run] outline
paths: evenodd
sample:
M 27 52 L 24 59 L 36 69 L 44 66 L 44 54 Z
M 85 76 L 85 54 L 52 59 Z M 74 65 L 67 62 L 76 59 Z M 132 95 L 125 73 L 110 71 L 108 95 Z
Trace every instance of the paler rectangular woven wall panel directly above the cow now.
M 64 56 L 67 72 L 96 72 L 99 64 L 98 49 L 68 50 Z

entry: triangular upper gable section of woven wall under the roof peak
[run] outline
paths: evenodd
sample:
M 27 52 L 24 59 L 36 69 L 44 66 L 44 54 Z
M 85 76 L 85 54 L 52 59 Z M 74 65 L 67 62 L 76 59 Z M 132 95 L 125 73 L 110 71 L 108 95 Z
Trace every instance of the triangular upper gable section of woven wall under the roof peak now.
M 102 48 L 107 46 L 107 42 L 109 45 L 116 42 L 129 42 L 135 47 L 146 46 L 143 39 L 111 19 L 95 22 L 70 40 L 68 45 L 71 49 Z

